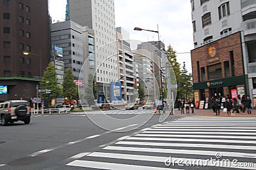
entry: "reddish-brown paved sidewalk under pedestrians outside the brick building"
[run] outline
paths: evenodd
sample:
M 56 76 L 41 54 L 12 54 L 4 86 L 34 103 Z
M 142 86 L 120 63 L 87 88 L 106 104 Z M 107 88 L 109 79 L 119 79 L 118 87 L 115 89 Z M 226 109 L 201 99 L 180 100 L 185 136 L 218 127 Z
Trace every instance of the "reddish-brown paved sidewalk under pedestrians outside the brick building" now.
M 186 113 L 186 110 L 184 110 L 184 114 L 180 114 L 180 111 L 178 109 L 175 109 L 173 116 L 174 117 L 256 117 L 256 110 L 252 110 L 252 115 L 248 116 L 247 111 L 240 112 L 240 113 L 232 113 L 231 115 L 228 116 L 227 112 L 223 112 L 223 110 L 220 110 L 220 116 L 215 116 L 216 114 L 211 110 L 195 110 L 195 113 L 191 113 L 191 110 L 189 111 L 190 113 Z

